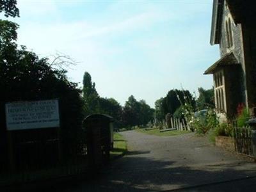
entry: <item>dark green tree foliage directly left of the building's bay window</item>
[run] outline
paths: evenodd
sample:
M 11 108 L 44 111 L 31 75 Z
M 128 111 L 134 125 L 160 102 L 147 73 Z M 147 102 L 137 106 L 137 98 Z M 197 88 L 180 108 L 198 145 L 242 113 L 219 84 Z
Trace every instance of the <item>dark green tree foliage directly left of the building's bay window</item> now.
M 198 88 L 199 97 L 196 100 L 196 107 L 198 110 L 214 107 L 214 90 L 205 90 L 204 88 Z

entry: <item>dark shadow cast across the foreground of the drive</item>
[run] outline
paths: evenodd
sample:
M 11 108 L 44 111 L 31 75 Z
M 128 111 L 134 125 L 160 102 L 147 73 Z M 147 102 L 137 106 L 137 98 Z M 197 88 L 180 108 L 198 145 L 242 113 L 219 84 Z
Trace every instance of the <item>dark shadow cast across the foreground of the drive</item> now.
M 243 164 L 243 166 L 237 162 L 195 166 L 180 165 L 180 163 L 177 165 L 175 161 L 140 157 L 141 154 L 147 153 L 149 152 L 129 152 L 128 156 L 114 161 L 96 176 L 90 177 L 89 175 L 88 177 L 86 175 L 79 179 L 65 180 L 58 184 L 54 182 L 47 185 L 40 184 L 32 188 L 20 186 L 19 191 L 168 191 L 191 186 L 204 186 L 205 184 L 209 184 L 207 190 L 211 191 L 212 186 L 218 182 L 227 181 L 228 184 L 232 183 L 230 180 L 256 175 L 255 166 L 250 163 Z M 236 186 L 236 183 L 232 183 L 228 189 L 239 191 L 243 187 L 243 184 Z M 223 188 L 223 191 L 225 191 L 224 189 L 227 188 Z M 195 188 L 191 191 L 195 191 Z

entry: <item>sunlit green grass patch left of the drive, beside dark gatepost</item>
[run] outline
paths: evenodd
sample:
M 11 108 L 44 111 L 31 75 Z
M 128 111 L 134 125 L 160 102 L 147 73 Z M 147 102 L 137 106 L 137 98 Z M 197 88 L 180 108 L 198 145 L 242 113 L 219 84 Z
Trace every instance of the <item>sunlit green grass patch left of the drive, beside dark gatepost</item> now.
M 121 134 L 115 132 L 114 148 L 110 152 L 110 159 L 115 159 L 116 157 L 123 156 L 125 152 L 127 152 L 127 143 Z

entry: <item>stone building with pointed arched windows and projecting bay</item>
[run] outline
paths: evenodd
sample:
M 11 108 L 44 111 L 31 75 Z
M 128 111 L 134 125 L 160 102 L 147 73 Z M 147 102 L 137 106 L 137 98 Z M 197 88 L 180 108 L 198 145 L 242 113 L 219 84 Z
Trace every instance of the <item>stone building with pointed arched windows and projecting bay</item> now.
M 256 106 L 256 9 L 253 0 L 214 0 L 211 45 L 220 60 L 205 70 L 214 79 L 215 106 L 228 119 L 239 104 Z

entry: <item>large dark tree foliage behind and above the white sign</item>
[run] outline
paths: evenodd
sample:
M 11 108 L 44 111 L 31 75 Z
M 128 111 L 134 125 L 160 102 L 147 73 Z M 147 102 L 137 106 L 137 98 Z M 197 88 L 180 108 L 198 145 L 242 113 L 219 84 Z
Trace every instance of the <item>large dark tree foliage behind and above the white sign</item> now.
M 70 132 L 69 138 L 75 137 L 83 120 L 81 90 L 68 81 L 65 70 L 52 68 L 48 58 L 38 58 L 24 46 L 18 49 L 17 28 L 13 22 L 0 20 L 0 87 L 4 90 L 0 95 L 0 127 L 5 127 L 6 102 L 59 99 L 61 129 Z

